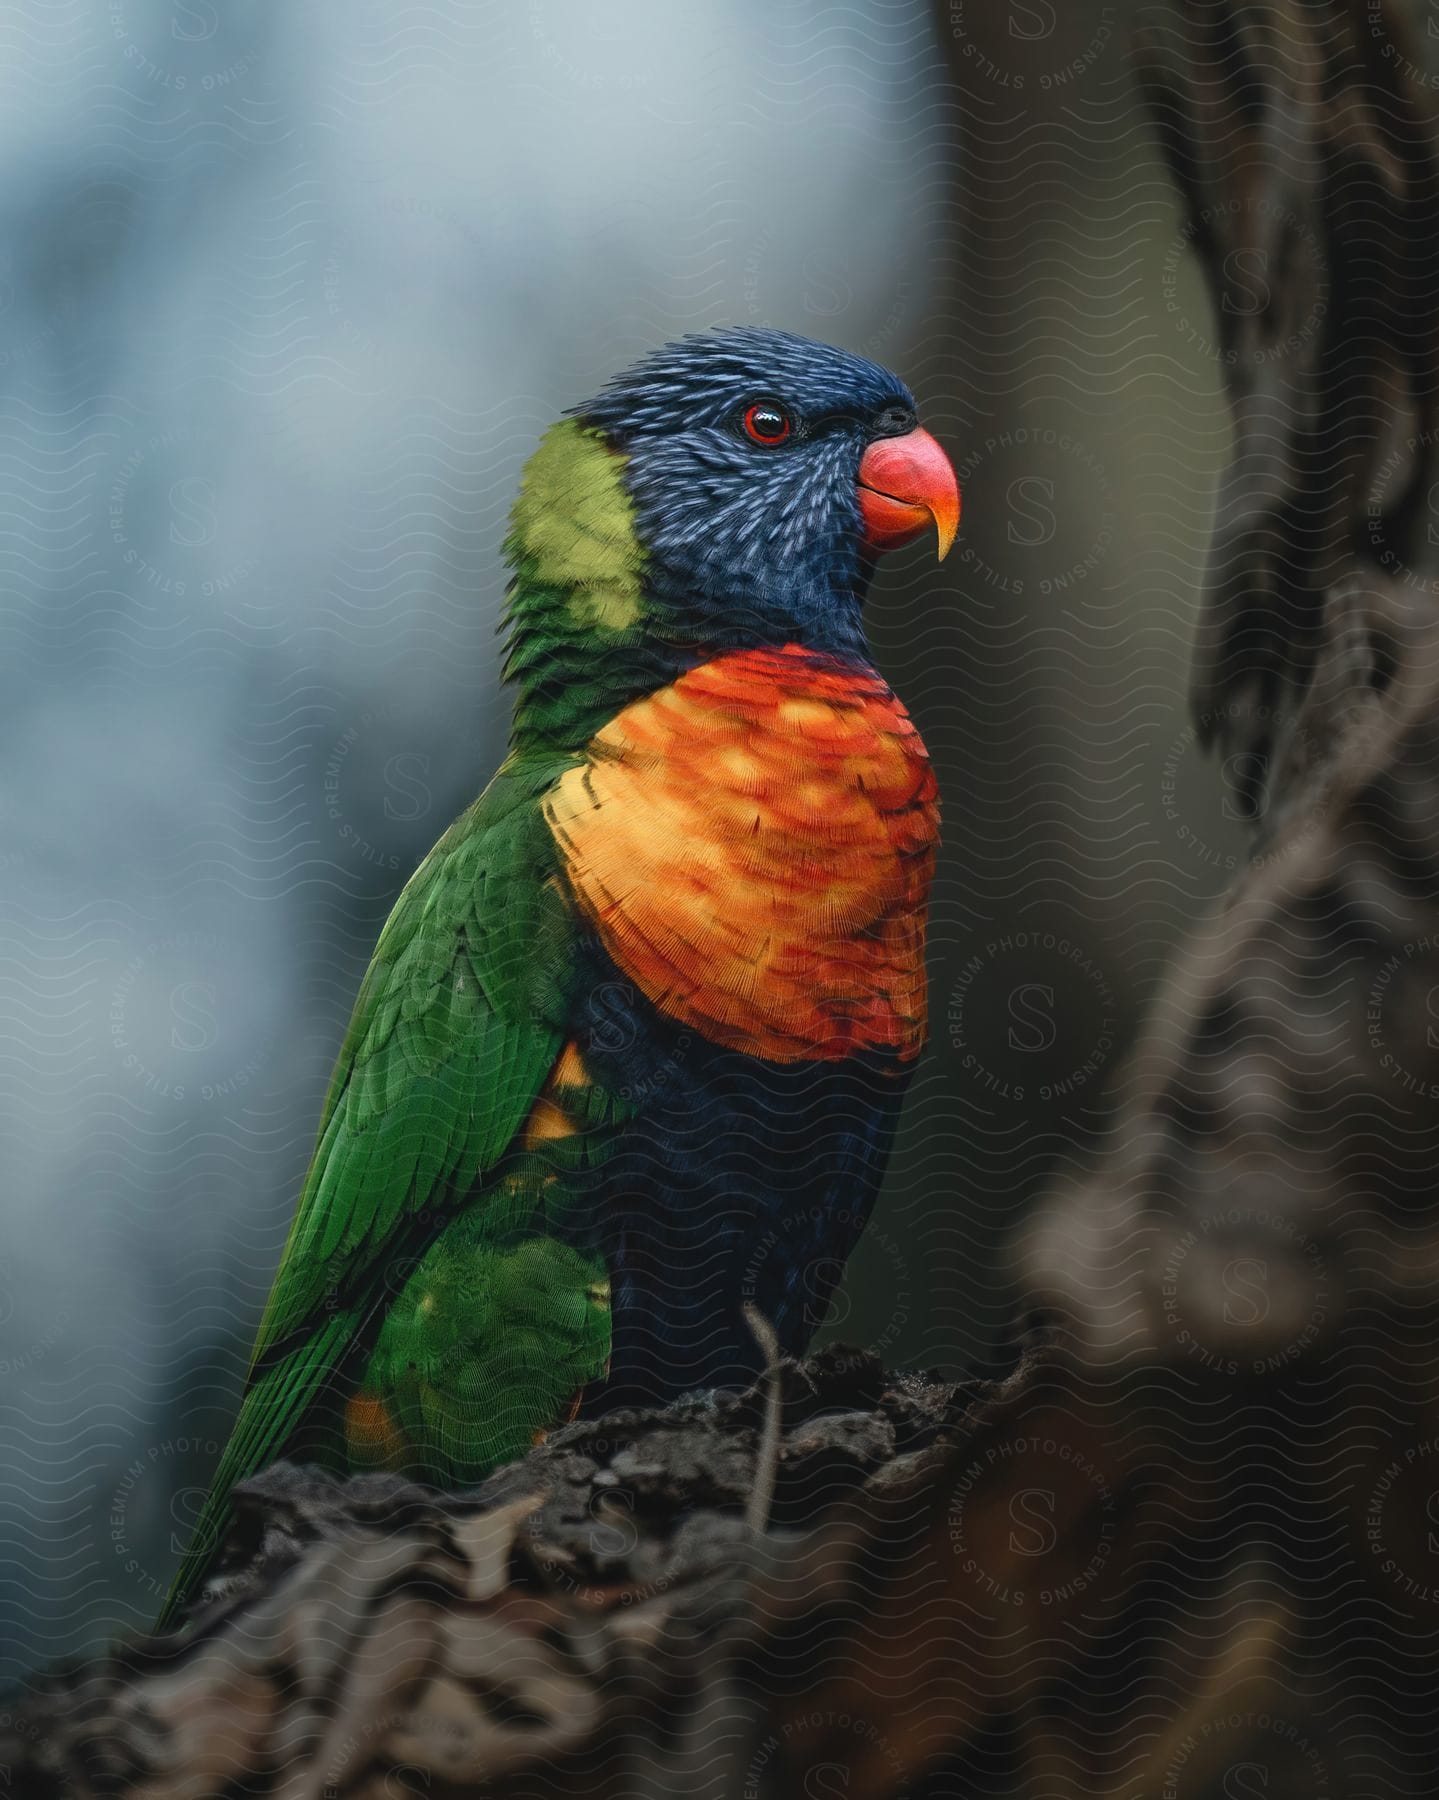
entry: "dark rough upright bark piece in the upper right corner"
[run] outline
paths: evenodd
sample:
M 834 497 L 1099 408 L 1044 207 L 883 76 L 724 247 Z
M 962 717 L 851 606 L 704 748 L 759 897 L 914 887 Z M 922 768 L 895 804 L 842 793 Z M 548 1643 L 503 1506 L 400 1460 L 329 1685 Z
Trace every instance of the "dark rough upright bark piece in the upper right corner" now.
M 1360 648 L 1351 621 L 1371 684 L 1434 617 L 1434 31 L 1405 0 L 1140 7 L 1234 409 L 1190 697 L 1255 805 L 1270 749 L 1329 756 L 1327 715 L 1299 715 L 1326 652 Z

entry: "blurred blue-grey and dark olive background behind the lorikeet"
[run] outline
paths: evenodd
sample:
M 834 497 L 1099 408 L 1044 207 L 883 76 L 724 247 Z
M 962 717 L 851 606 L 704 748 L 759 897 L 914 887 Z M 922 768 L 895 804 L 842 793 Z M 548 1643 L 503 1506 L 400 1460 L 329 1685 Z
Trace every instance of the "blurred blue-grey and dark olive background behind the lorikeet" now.
M 832 1330 L 1003 1337 L 1003 1244 L 1239 853 L 1183 709 L 1216 333 L 1120 14 L 0 16 L 0 1674 L 153 1615 L 378 927 L 502 752 L 519 466 L 686 329 L 891 364 L 962 473 L 872 608 L 946 853 Z

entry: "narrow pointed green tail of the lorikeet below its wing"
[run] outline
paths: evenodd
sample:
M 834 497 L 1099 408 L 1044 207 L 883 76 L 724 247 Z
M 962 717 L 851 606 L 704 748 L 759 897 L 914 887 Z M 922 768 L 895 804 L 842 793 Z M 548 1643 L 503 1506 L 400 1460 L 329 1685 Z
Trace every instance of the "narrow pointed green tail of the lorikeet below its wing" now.
M 236 1483 L 274 1462 L 294 1438 L 313 1402 L 330 1386 L 353 1328 L 353 1318 L 330 1319 L 250 1382 L 240 1402 L 240 1418 L 234 1422 L 225 1454 L 220 1458 L 220 1469 L 200 1508 L 195 1535 L 155 1620 L 157 1631 L 166 1631 L 175 1622 L 205 1579 L 234 1514 Z

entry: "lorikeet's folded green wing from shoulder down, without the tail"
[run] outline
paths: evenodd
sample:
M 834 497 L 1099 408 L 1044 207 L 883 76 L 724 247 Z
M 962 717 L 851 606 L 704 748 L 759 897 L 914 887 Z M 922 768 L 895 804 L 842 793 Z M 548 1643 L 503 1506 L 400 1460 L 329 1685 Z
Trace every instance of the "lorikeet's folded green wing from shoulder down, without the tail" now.
M 537 990 L 528 947 L 546 913 L 564 914 L 538 808 L 562 767 L 506 765 L 425 857 L 380 932 L 254 1368 L 310 1321 L 337 1278 L 353 1287 L 407 1217 L 465 1197 L 544 1085 L 566 994 Z

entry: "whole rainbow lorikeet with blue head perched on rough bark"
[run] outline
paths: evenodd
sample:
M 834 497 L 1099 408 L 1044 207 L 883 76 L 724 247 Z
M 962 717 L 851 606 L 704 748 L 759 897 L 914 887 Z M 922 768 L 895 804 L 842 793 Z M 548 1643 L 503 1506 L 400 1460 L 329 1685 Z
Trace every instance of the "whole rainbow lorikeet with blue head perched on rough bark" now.
M 380 934 L 167 1611 L 283 1453 L 470 1483 L 751 1379 L 746 1301 L 803 1350 L 926 1028 L 935 778 L 861 603 L 958 513 L 904 385 L 780 331 L 546 434 L 510 754 Z

